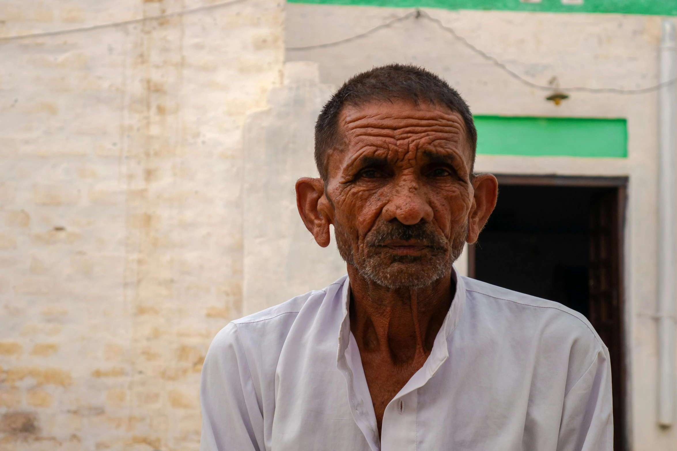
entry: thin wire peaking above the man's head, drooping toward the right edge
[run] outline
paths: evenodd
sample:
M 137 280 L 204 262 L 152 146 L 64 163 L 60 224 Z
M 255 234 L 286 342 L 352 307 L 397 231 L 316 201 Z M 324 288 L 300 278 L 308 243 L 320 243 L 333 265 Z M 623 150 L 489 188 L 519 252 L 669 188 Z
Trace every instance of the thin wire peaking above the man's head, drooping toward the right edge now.
M 415 11 L 412 11 L 408 14 L 405 14 L 404 16 L 401 16 L 399 18 L 395 18 L 393 20 L 390 20 L 389 22 L 386 22 L 385 24 L 381 24 L 379 26 L 376 26 L 370 30 L 367 30 L 366 32 L 356 34 L 353 37 L 349 37 L 346 39 L 341 39 L 340 41 L 334 41 L 330 43 L 324 43 L 324 44 L 317 44 L 317 45 L 305 45 L 303 47 L 286 47 L 286 50 L 289 51 L 302 51 L 302 50 L 311 50 L 311 49 L 326 49 L 330 47 L 336 47 L 337 45 L 342 45 L 345 43 L 349 43 L 351 41 L 357 41 L 358 39 L 362 39 L 364 37 L 368 37 L 370 34 L 374 34 L 378 30 L 383 30 L 385 28 L 390 28 L 391 26 L 397 24 L 398 22 L 403 22 L 405 20 L 408 20 L 410 18 L 414 19 L 424 19 L 429 22 L 432 22 L 433 24 L 437 25 L 441 30 L 444 30 L 448 32 L 449 34 L 454 37 L 457 41 L 462 43 L 465 47 L 468 49 L 471 49 L 474 53 L 477 55 L 483 57 L 483 59 L 487 60 L 488 62 L 491 62 L 494 64 L 494 66 L 497 66 L 498 68 L 502 69 L 506 74 L 508 74 L 510 77 L 515 78 L 515 80 L 521 82 L 523 85 L 526 85 L 531 88 L 535 89 L 541 89 L 543 91 L 554 91 L 555 89 L 559 89 L 561 91 L 569 91 L 569 92 L 587 92 L 587 93 L 611 93 L 611 94 L 643 94 L 643 93 L 650 93 L 652 91 L 658 91 L 659 89 L 663 87 L 667 87 L 670 85 L 674 85 L 677 82 L 677 78 L 674 78 L 672 80 L 668 80 L 662 83 L 659 83 L 658 85 L 653 85 L 647 88 L 640 88 L 640 89 L 619 89 L 619 88 L 588 88 L 588 87 L 565 87 L 565 88 L 560 88 L 560 87 L 552 87 L 552 86 L 546 86 L 546 85 L 539 85 L 538 83 L 534 83 L 531 80 L 527 80 L 527 78 L 524 78 L 520 74 L 517 74 L 517 72 L 513 71 L 512 69 L 508 68 L 506 64 L 500 62 L 496 57 L 493 57 L 492 55 L 489 55 L 482 49 L 479 49 L 478 47 L 475 47 L 475 45 L 471 44 L 468 42 L 467 39 L 464 37 L 460 36 L 454 28 L 451 28 L 450 26 L 446 26 L 441 22 L 441 20 L 433 18 L 429 16 L 429 14 L 426 11 L 422 11 L 421 9 L 416 9 Z

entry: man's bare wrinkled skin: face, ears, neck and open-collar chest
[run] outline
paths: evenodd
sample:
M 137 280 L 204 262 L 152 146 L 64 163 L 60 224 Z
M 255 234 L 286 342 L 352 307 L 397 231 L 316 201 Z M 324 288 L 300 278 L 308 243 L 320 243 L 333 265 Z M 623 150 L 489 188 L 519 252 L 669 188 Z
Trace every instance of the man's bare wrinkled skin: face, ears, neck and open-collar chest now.
M 380 432 L 387 404 L 428 358 L 456 287 L 452 262 L 496 205 L 491 174 L 472 175 L 462 118 L 409 101 L 347 106 L 328 183 L 297 181 L 319 245 L 330 224 L 347 262 L 350 325 Z M 452 400 L 450 400 L 452 402 Z

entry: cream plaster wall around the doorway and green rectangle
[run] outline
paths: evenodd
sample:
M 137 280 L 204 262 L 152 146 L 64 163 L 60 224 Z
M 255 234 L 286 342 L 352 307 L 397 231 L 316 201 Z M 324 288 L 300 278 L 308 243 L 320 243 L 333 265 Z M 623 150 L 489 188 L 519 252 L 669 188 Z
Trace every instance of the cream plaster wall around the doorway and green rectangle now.
M 331 43 L 411 9 L 289 4 L 286 45 Z M 521 76 L 547 85 L 634 89 L 657 83 L 660 20 L 655 16 L 427 12 Z M 476 114 L 628 119 L 628 158 L 479 156 L 477 170 L 502 174 L 630 176 L 626 222 L 626 339 L 629 440 L 633 450 L 677 450 L 675 428 L 657 426 L 657 93 L 571 93 L 556 107 L 425 20 L 399 22 L 335 47 L 287 51 L 288 61 L 320 65 L 320 81 L 340 85 L 389 62 L 420 64 L 456 87 Z M 481 136 L 479 137 L 481 139 Z M 677 278 L 676 278 L 677 279 Z

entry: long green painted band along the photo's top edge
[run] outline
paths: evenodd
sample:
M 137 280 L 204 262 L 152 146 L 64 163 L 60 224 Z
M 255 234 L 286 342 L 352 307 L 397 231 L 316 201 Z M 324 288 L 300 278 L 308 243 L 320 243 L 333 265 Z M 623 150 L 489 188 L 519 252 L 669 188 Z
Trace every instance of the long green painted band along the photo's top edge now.
M 430 7 L 440 9 L 677 16 L 677 1 L 675 0 L 584 0 L 580 5 L 563 5 L 561 0 L 542 0 L 541 3 L 523 3 L 519 0 L 288 0 L 288 2 L 395 8 Z

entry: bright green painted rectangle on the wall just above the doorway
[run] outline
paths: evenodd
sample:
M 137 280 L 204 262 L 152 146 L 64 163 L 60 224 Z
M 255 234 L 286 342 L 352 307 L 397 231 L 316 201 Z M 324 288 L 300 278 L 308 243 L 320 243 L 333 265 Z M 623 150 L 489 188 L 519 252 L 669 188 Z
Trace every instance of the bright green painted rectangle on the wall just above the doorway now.
M 626 158 L 625 119 L 475 116 L 483 155 Z

